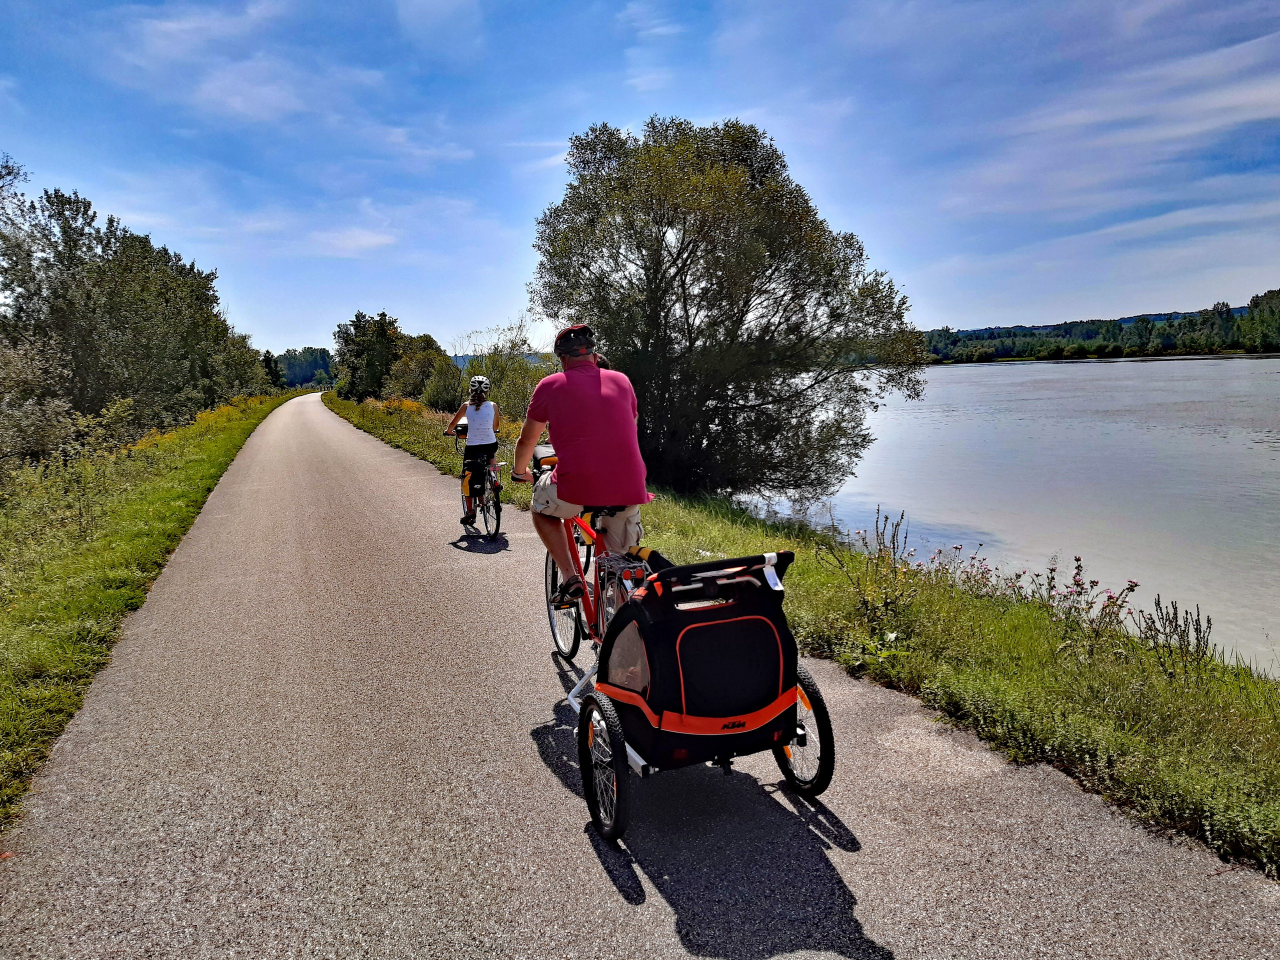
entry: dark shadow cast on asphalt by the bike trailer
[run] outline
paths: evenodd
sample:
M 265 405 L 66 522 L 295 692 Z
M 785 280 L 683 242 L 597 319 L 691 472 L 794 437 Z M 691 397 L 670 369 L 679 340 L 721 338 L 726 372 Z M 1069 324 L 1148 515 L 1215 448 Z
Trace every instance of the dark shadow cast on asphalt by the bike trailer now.
M 576 682 L 564 672 L 561 680 L 566 689 Z M 581 797 L 575 724 L 572 708 L 561 701 L 531 736 L 547 767 Z M 632 787 L 622 844 L 600 840 L 590 824 L 586 837 L 627 902 L 645 901 L 641 876 L 657 888 L 690 952 L 750 960 L 803 950 L 893 956 L 863 933 L 858 900 L 827 856 L 832 847 L 856 852 L 860 844 L 820 801 L 705 765 L 634 778 Z

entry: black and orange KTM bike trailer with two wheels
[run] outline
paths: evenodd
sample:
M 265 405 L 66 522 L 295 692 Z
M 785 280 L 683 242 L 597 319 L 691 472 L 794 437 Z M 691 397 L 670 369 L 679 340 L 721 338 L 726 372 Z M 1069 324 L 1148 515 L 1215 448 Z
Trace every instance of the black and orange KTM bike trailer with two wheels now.
M 607 840 L 626 829 L 630 773 L 695 763 L 728 773 L 735 756 L 772 750 L 792 790 L 817 796 L 829 786 L 831 719 L 782 611 L 794 558 L 668 567 L 613 616 L 595 667 L 568 696 L 584 792 Z

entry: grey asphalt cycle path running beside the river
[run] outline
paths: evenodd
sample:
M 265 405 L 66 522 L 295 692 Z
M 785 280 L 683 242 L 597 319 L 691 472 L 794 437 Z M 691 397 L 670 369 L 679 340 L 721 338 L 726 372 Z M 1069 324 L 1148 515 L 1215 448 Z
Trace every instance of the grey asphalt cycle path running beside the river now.
M 0 837 L 4 957 L 1280 957 L 1280 887 L 812 663 L 768 755 L 588 826 L 529 518 L 292 401 L 250 438 Z M 580 654 L 585 657 L 585 654 Z

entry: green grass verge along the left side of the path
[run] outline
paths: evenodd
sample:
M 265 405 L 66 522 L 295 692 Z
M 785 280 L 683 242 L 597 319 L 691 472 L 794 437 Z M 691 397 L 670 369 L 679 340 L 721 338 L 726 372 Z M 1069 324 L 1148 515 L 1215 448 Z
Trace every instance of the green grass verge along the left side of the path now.
M 124 449 L 5 480 L 0 828 L 223 471 L 266 415 L 298 393 L 241 399 Z

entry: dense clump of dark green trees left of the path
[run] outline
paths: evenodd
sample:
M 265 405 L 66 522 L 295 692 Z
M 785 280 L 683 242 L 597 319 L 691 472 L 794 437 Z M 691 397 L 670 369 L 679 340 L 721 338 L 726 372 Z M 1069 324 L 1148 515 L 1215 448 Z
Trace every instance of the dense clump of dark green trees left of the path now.
M 262 389 L 257 351 L 227 323 L 215 271 L 115 218 L 100 223 L 78 193 L 28 200 L 14 189 L 20 179 L 0 157 L 0 349 L 41 357 L 44 383 L 40 396 L 29 378 L 0 388 L 0 407 L 22 407 L 31 422 L 41 397 L 84 416 L 111 410 L 128 436 Z

